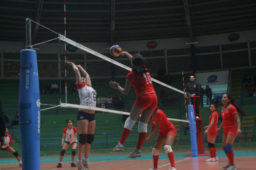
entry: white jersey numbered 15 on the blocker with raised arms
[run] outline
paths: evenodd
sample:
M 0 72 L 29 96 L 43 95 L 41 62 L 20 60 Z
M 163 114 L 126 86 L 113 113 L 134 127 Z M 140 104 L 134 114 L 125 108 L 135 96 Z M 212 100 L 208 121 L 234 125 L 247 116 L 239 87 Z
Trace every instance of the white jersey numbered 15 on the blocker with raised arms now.
M 80 105 L 96 107 L 96 91 L 84 83 L 76 84 L 80 98 Z

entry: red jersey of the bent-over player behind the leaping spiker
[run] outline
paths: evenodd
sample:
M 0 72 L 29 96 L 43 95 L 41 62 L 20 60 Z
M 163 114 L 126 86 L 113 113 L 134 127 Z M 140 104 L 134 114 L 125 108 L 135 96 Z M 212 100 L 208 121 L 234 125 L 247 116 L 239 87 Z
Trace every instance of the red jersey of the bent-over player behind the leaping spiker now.
M 156 120 L 161 120 L 160 131 L 169 130 L 173 124 L 167 119 L 166 115 L 162 110 L 157 109 L 157 111 L 152 114 L 151 124 L 156 125 Z

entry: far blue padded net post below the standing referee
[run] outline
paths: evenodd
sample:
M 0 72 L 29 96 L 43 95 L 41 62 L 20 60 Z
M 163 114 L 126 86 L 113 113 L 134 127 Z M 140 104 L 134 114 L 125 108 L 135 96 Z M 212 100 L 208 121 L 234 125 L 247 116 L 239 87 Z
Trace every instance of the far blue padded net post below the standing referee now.
M 188 106 L 189 113 L 189 131 L 190 131 L 190 140 L 192 148 L 192 156 L 197 157 L 197 142 L 196 142 L 196 126 L 195 126 L 195 114 L 193 105 Z

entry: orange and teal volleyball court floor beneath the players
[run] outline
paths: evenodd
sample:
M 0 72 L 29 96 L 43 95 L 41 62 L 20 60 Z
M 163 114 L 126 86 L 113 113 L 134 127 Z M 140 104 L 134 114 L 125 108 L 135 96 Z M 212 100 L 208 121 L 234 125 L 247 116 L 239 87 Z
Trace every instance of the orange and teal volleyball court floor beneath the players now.
M 254 148 L 252 148 L 254 149 Z M 107 153 L 89 157 L 90 170 L 150 170 L 153 168 L 152 154 L 147 152 L 142 157 L 131 159 L 127 157 L 128 152 L 116 155 Z M 176 170 L 222 170 L 222 166 L 228 163 L 228 158 L 223 151 L 217 151 L 219 161 L 205 162 L 209 156 L 184 157 L 189 153 L 175 153 Z M 234 151 L 237 170 L 256 170 L 256 150 Z M 77 157 L 76 157 L 77 158 Z M 75 160 L 76 160 L 75 158 Z M 77 170 L 77 167 L 70 167 L 71 156 L 65 156 L 62 168 L 56 168 L 60 157 L 41 157 L 40 170 Z M 166 153 L 160 153 L 158 170 L 169 170 L 170 163 Z M 1 158 L 0 170 L 21 170 L 15 158 Z

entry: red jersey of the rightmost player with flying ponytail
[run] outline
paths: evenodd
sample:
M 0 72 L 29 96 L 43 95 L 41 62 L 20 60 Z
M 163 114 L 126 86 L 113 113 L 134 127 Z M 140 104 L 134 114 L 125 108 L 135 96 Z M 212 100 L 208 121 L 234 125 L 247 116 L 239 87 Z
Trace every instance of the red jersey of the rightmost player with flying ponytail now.
M 234 116 L 237 113 L 236 107 L 229 104 L 227 107 L 222 107 L 221 112 L 223 128 L 236 126 L 236 118 Z

